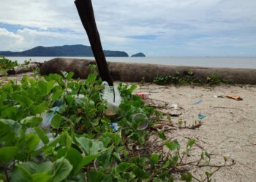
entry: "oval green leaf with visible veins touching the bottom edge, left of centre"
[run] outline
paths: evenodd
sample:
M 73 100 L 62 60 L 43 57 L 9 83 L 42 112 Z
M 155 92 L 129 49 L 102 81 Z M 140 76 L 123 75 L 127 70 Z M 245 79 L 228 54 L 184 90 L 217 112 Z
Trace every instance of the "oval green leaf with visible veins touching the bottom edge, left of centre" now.
M 59 182 L 67 178 L 72 170 L 72 165 L 64 157 L 61 157 L 56 161 L 56 170 L 53 175 L 53 182 Z

